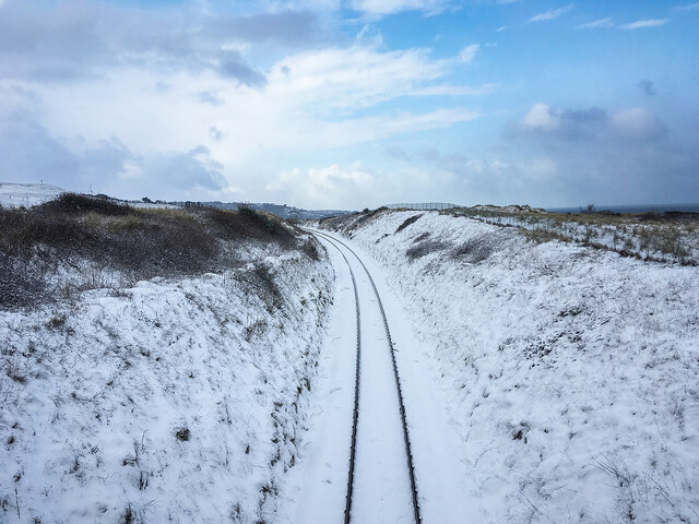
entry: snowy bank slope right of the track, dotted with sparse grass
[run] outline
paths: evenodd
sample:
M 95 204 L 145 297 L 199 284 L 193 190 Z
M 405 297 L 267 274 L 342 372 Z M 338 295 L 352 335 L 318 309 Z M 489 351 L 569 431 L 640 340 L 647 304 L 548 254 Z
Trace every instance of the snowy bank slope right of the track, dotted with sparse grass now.
M 699 522 L 699 269 L 436 212 L 355 221 L 323 227 L 434 362 L 471 522 Z

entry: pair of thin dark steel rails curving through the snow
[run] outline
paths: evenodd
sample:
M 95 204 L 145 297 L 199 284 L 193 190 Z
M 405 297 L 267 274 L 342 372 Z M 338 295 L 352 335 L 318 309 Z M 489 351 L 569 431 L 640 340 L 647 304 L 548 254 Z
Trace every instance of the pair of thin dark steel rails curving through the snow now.
M 345 524 L 350 524 L 352 522 L 352 510 L 353 510 L 353 501 L 354 501 L 354 496 L 355 496 L 355 491 L 356 491 L 356 475 L 355 475 L 355 471 L 356 471 L 356 463 L 357 463 L 357 449 L 358 449 L 358 439 L 357 436 L 359 434 L 359 415 L 360 415 L 360 392 L 363 389 L 363 380 L 362 380 L 362 313 L 360 313 L 360 300 L 359 300 L 359 291 L 358 291 L 358 286 L 357 286 L 357 278 L 355 277 L 353 267 L 352 267 L 352 263 L 350 262 L 350 260 L 347 259 L 347 255 L 345 254 L 345 250 L 346 252 L 351 253 L 351 255 L 356 259 L 356 261 L 360 264 L 362 269 L 364 270 L 364 273 L 367 276 L 367 279 L 370 284 L 374 297 L 376 299 L 379 312 L 380 312 L 380 317 L 381 317 L 381 321 L 383 324 L 383 330 L 384 330 L 384 334 L 386 334 L 386 341 L 387 341 L 387 345 L 388 345 L 388 353 L 390 354 L 390 362 L 391 362 L 391 367 L 392 367 L 392 376 L 393 376 L 393 382 L 394 382 L 394 386 L 395 386 L 395 392 L 396 392 L 396 396 L 398 396 L 398 410 L 400 414 L 400 420 L 401 420 L 401 428 L 402 428 L 402 436 L 403 436 L 403 451 L 404 451 L 404 455 L 405 455 L 405 466 L 407 469 L 407 477 L 410 480 L 410 499 L 412 502 L 412 520 L 414 521 L 415 524 L 422 524 L 422 516 L 420 516 L 420 509 L 419 509 L 419 500 L 418 500 L 418 495 L 417 495 L 417 486 L 416 486 L 416 480 L 415 480 L 415 467 L 414 467 L 414 463 L 413 463 L 413 453 L 411 450 L 411 438 L 410 438 L 410 431 L 407 429 L 407 421 L 406 421 L 406 414 L 405 414 L 405 404 L 404 404 L 404 400 L 403 400 L 403 391 L 401 388 L 401 380 L 400 380 L 400 374 L 399 374 L 399 370 L 398 370 L 398 365 L 396 365 L 396 360 L 395 360 L 395 348 L 393 346 L 393 342 L 391 338 L 391 331 L 389 329 L 389 323 L 388 323 L 388 319 L 386 317 L 386 311 L 383 309 L 383 303 L 381 302 L 381 297 L 379 295 L 379 291 L 377 289 L 376 283 L 371 276 L 371 274 L 369 273 L 369 270 L 367 269 L 367 266 L 365 265 L 365 263 L 362 261 L 362 259 L 354 252 L 354 250 L 352 250 L 352 248 L 350 248 L 346 243 L 344 243 L 342 240 L 339 240 L 330 235 L 327 235 L 324 233 L 318 231 L 318 230 L 309 230 L 309 233 L 311 233 L 312 235 L 322 238 L 323 240 L 325 240 L 329 245 L 333 246 L 342 255 L 342 258 L 344 259 L 345 263 L 347 264 L 347 267 L 350 269 L 350 274 L 352 277 L 352 283 L 353 283 L 353 287 L 354 287 L 354 297 L 355 297 L 355 310 L 356 310 L 356 324 L 357 324 L 357 344 L 356 344 L 356 362 L 355 362 L 355 391 L 354 391 L 354 409 L 353 409 L 353 425 L 352 425 L 352 440 L 351 440 L 351 448 L 350 448 L 350 465 L 348 465 L 348 473 L 347 473 L 347 488 L 346 488 L 346 496 L 345 496 L 345 511 L 344 511 L 344 523 Z M 344 250 L 343 250 L 344 248 Z M 359 453 L 362 453 L 362 450 L 359 449 Z M 362 501 L 358 501 L 358 503 L 360 503 Z

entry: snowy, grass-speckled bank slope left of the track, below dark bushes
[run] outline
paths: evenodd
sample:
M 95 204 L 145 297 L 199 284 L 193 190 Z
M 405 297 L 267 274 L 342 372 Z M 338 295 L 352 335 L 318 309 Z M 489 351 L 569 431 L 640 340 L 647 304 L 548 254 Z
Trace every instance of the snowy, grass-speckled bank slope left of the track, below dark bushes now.
M 0 522 L 285 522 L 332 296 L 289 251 L 0 312 Z

